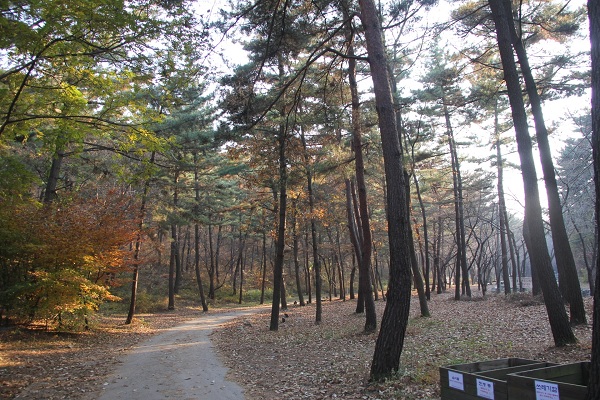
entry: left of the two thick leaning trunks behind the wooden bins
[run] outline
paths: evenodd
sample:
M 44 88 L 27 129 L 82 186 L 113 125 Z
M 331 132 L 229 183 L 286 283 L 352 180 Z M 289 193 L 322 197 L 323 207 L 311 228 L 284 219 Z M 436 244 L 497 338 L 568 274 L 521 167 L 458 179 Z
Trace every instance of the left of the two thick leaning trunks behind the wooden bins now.
M 517 139 L 517 148 L 521 160 L 521 173 L 525 190 L 525 222 L 527 224 L 530 240 L 529 254 L 533 268 L 537 271 L 544 293 L 544 302 L 550 321 L 550 328 L 556 346 L 564 346 L 575 343 L 577 340 L 569 318 L 562 302 L 558 285 L 554 279 L 546 236 L 542 220 L 542 209 L 537 186 L 537 174 L 533 161 L 533 147 L 527 126 L 527 115 L 525 104 L 521 94 L 519 77 L 511 47 L 511 35 L 508 25 L 508 17 L 502 3 L 503 0 L 489 0 L 496 34 L 498 48 L 504 69 L 504 79 L 508 88 L 508 95 L 512 110 Z

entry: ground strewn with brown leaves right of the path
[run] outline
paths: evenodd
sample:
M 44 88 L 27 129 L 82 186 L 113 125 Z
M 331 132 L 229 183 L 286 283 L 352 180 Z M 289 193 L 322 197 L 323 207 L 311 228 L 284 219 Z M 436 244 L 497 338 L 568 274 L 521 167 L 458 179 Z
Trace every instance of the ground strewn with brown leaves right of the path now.
M 433 295 L 431 317 L 419 317 L 413 296 L 401 370 L 384 383 L 369 383 L 376 335 L 362 331 L 355 301 L 323 303 L 323 322 L 314 324 L 313 305 L 292 306 L 278 332 L 269 314 L 230 322 L 213 342 L 232 369 L 232 379 L 249 399 L 439 399 L 438 367 L 505 357 L 552 362 L 585 361 L 590 326 L 575 328 L 579 343 L 553 346 L 543 304 L 529 295 L 487 296 L 454 301 Z M 586 298 L 588 322 L 592 299 Z M 377 302 L 383 314 L 385 303 Z

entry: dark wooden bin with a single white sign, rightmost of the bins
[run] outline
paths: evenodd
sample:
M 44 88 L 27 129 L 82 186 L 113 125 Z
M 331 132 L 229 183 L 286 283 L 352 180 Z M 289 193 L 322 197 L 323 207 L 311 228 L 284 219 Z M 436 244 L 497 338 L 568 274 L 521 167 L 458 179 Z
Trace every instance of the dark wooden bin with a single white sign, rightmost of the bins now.
M 581 400 L 589 378 L 589 362 L 518 372 L 508 376 L 508 396 L 523 400 Z

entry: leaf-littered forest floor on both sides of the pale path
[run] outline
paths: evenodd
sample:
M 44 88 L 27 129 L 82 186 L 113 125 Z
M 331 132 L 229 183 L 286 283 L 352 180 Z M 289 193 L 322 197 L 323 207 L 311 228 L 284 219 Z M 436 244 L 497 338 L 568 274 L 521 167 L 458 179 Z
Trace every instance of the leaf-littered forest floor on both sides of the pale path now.
M 591 323 L 592 299 L 586 298 Z M 378 317 L 385 303 L 377 303 Z M 575 328 L 577 345 L 555 348 L 543 304 L 528 295 L 454 301 L 432 295 L 432 316 L 420 318 L 413 297 L 402 369 L 383 383 L 369 383 L 376 335 L 362 333 L 364 315 L 355 301 L 324 301 L 323 321 L 313 305 L 290 306 L 278 332 L 269 313 L 236 319 L 212 335 L 230 379 L 248 399 L 429 399 L 439 398 L 439 366 L 520 357 L 552 362 L 589 359 L 591 324 Z M 211 310 L 209 313 L 217 313 Z M 140 341 L 198 318 L 199 307 L 180 302 L 174 312 L 97 316 L 93 329 L 57 333 L 42 329 L 0 330 L 0 399 L 90 399 Z

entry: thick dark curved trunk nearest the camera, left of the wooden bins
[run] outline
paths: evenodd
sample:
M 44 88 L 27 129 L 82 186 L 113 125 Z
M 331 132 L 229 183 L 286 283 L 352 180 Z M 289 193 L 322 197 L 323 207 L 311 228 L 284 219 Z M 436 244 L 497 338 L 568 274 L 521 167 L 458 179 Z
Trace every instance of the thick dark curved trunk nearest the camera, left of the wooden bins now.
M 398 370 L 408 325 L 411 294 L 409 224 L 402 147 L 396 127 L 378 9 L 373 0 L 359 0 L 359 5 L 375 91 L 387 191 L 390 279 L 387 303 L 371 363 L 371 378 L 381 379 Z

